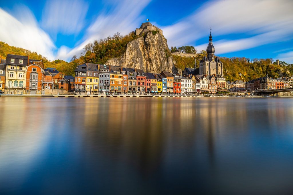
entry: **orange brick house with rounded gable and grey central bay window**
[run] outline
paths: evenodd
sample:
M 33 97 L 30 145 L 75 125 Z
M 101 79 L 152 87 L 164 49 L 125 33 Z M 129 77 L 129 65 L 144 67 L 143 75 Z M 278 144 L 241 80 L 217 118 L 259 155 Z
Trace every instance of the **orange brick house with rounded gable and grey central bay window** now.
M 25 90 L 30 94 L 41 93 L 42 81 L 45 79 L 43 69 L 37 64 L 32 64 L 26 67 L 26 85 Z

